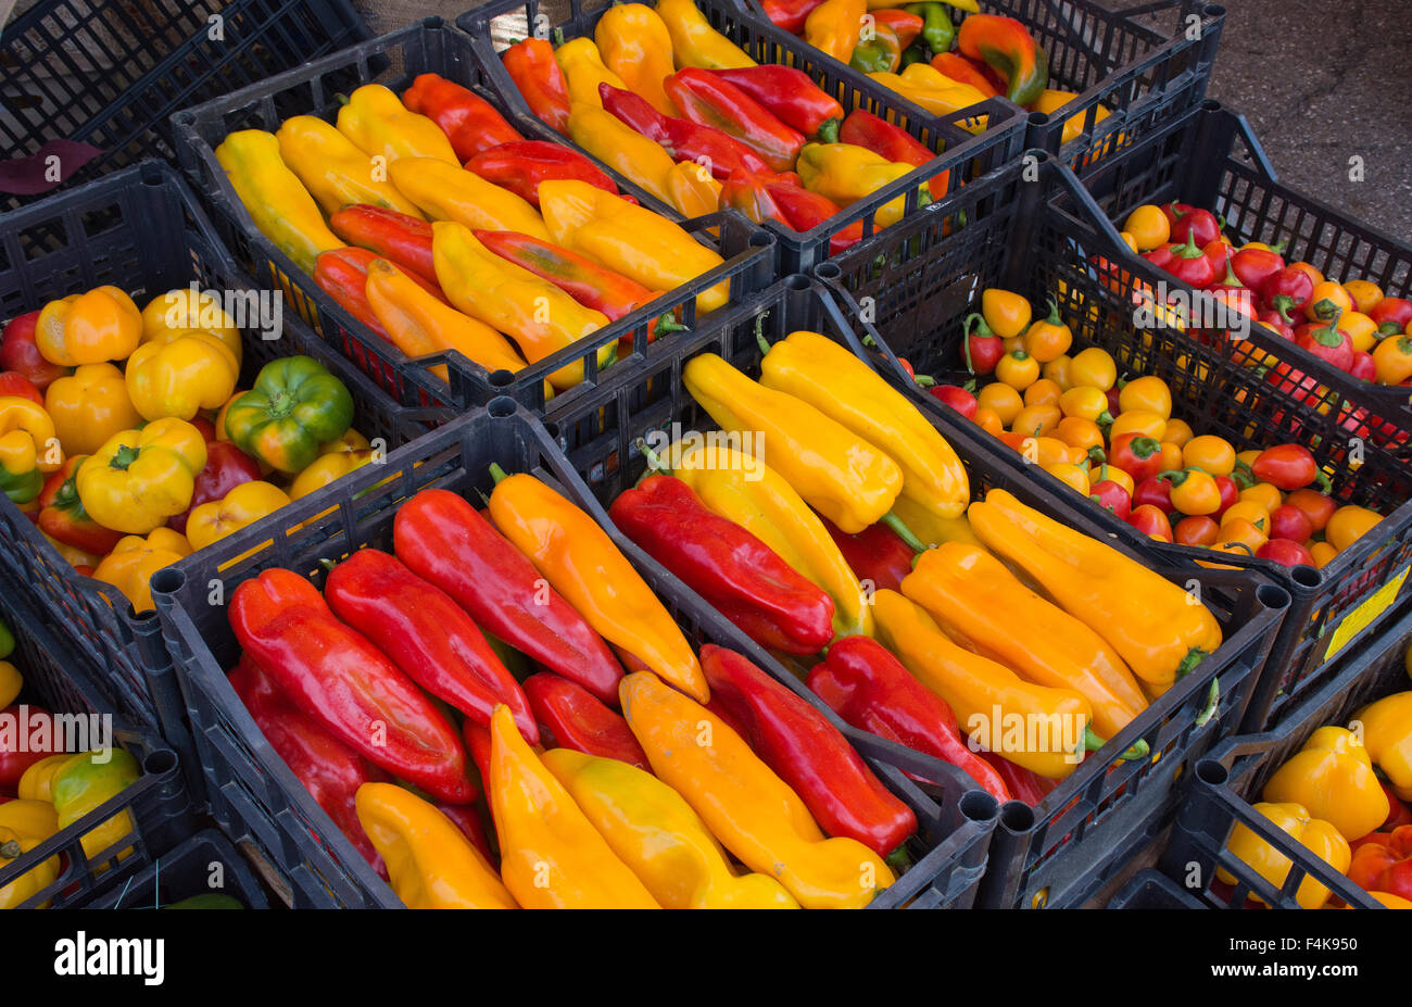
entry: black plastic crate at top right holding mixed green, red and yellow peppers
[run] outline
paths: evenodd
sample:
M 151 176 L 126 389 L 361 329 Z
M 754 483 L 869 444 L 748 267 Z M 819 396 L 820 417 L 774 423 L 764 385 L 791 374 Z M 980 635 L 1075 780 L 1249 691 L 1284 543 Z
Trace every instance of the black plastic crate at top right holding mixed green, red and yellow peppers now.
M 757 0 L 741 3 L 770 24 Z M 955 7 L 947 13 L 956 24 L 966 18 Z M 1049 86 L 1076 95 L 1051 114 L 1031 113 L 1027 133 L 1029 147 L 1073 167 L 1139 143 L 1206 97 L 1226 21 L 1224 7 L 1203 0 L 1155 0 L 1128 10 L 1108 10 L 1094 0 L 981 0 L 980 13 L 1024 23 L 1049 58 Z M 806 48 L 830 66 L 844 66 Z M 1101 120 L 1100 107 L 1108 112 Z M 1066 140 L 1069 121 L 1075 126 Z

